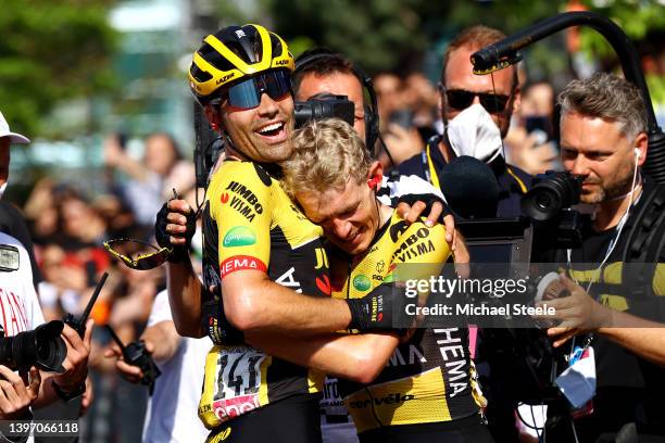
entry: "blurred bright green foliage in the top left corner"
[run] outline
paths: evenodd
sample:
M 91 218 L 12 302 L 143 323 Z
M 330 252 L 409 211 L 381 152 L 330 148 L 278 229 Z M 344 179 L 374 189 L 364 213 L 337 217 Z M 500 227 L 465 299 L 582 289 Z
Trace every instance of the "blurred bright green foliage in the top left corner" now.
M 58 102 L 113 86 L 109 5 L 109 0 L 2 1 L 0 103 L 13 129 L 35 136 Z

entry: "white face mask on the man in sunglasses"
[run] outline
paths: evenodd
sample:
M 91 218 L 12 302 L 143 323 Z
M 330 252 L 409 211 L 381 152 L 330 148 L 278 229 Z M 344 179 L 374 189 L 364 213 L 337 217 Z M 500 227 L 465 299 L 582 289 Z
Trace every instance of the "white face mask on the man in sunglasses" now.
M 468 155 L 490 163 L 502 152 L 501 131 L 480 103 L 448 122 L 448 139 L 457 156 Z

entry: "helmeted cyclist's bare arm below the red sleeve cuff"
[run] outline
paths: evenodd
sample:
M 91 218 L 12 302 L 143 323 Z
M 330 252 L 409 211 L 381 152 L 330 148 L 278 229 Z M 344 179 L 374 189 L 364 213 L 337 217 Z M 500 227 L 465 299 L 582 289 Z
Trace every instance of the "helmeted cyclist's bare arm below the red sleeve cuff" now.
M 346 329 L 351 321 L 343 300 L 299 294 L 259 270 L 224 277 L 222 296 L 226 318 L 246 332 L 318 334 Z

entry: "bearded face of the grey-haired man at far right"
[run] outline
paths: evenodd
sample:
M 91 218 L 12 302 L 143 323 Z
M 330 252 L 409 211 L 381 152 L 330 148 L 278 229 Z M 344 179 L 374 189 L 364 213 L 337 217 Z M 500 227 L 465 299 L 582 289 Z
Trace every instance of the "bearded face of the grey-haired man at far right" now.
M 581 202 L 616 206 L 626 200 L 620 197 L 630 192 L 632 185 L 633 150 L 640 151 L 641 166 L 647 157 L 647 135 L 629 139 L 616 123 L 577 113 L 563 116 L 561 135 L 564 168 L 585 176 Z

